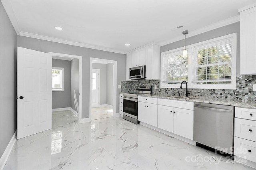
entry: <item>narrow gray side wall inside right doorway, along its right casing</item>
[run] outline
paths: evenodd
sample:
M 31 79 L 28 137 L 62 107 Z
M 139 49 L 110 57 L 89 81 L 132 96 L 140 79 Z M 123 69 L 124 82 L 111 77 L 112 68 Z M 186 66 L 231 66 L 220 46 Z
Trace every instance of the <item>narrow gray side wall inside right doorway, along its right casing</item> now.
M 107 104 L 113 106 L 113 63 L 107 64 Z M 118 100 L 118 99 L 117 99 Z

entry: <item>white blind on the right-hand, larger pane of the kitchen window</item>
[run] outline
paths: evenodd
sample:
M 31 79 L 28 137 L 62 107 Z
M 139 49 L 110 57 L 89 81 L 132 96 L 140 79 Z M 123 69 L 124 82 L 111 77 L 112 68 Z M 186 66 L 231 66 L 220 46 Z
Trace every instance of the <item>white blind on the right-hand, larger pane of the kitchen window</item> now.
M 232 44 L 230 37 L 192 47 L 192 83 L 231 84 Z

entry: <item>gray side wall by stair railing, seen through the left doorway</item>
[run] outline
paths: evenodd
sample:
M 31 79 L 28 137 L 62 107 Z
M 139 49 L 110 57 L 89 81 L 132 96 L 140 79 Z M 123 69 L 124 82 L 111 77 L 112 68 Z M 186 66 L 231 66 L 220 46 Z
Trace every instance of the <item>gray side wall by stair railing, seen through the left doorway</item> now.
M 79 59 L 74 58 L 71 60 L 71 108 L 77 113 L 76 107 L 74 105 L 74 89 L 76 92 L 76 99 L 79 104 Z

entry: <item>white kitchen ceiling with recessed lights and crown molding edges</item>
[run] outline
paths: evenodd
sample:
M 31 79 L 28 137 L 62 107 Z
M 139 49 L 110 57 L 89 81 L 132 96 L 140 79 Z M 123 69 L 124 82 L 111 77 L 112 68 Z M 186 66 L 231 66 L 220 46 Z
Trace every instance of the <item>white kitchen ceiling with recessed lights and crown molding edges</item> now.
M 237 22 L 256 0 L 1 0 L 18 35 L 126 53 Z M 55 26 L 63 28 L 55 30 Z M 175 29 L 178 26 L 184 26 Z M 130 43 L 130 46 L 125 46 Z

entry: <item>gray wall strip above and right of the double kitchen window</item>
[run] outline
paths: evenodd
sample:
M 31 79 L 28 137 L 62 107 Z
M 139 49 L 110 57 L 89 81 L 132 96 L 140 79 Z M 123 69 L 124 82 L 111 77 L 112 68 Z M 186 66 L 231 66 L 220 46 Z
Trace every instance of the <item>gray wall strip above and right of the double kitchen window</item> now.
M 189 30 L 188 30 L 189 31 Z M 186 38 L 186 45 L 210 40 L 213 38 L 217 38 L 220 36 L 225 36 L 228 34 L 237 33 L 237 49 L 236 49 L 236 75 L 240 75 L 240 22 L 236 22 L 234 24 L 230 24 L 224 27 L 217 28 L 215 30 L 211 30 L 202 34 L 198 34 L 196 36 L 192 36 L 190 38 Z M 189 35 L 189 32 L 188 32 Z M 184 47 L 184 40 L 180 40 L 178 42 L 169 43 L 167 45 L 160 47 L 160 52 L 168 51 L 171 49 L 176 49 L 179 47 Z

